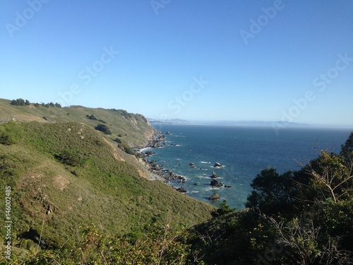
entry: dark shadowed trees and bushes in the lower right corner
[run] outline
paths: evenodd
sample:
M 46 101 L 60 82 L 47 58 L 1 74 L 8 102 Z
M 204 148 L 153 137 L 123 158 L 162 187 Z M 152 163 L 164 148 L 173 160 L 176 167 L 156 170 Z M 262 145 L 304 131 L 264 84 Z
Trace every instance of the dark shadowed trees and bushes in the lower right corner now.
M 352 143 L 353 132 L 297 172 L 262 170 L 244 211 L 196 225 L 191 252 L 206 264 L 352 264 Z

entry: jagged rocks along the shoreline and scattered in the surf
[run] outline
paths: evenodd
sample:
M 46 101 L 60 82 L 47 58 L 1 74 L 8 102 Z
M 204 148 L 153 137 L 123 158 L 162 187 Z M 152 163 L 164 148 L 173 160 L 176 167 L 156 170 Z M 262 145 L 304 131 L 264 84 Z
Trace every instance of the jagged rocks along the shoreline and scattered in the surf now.
M 166 134 L 170 134 L 170 132 L 167 131 Z M 164 182 L 164 184 L 167 184 L 169 186 L 170 186 L 171 182 L 174 182 L 177 184 L 184 184 L 186 182 L 186 177 L 184 177 L 182 175 L 175 174 L 174 172 L 172 172 L 170 170 L 164 169 L 161 165 L 157 164 L 156 160 L 148 160 L 150 155 L 153 155 L 155 153 L 150 150 L 146 151 L 147 149 L 164 148 L 165 144 L 166 144 L 165 143 L 165 135 L 162 133 L 162 131 L 158 131 L 157 134 L 155 134 L 155 136 L 153 136 L 153 138 L 148 142 L 147 146 L 134 148 L 134 151 L 138 155 L 138 158 L 142 158 L 143 163 L 145 164 L 146 168 L 148 169 L 148 171 L 151 174 L 151 180 L 160 180 L 160 181 Z M 171 145 L 177 146 L 175 144 L 171 144 Z M 196 168 L 196 165 L 193 163 L 189 163 L 189 167 Z M 223 167 L 223 165 L 216 162 L 213 167 L 220 168 L 220 167 Z M 229 185 L 225 185 L 222 182 L 218 182 L 216 180 L 217 177 L 218 177 L 217 174 L 213 171 L 212 175 L 210 176 L 210 179 L 211 179 L 210 185 L 211 186 L 225 187 L 225 188 L 232 187 Z M 194 183 L 194 184 L 197 185 L 197 183 Z M 173 188 L 176 189 L 178 192 L 187 193 L 186 189 L 183 186 L 181 186 L 179 188 L 175 188 L 175 187 L 173 187 Z M 209 199 L 210 200 L 219 199 L 219 196 L 212 196 L 211 195 Z

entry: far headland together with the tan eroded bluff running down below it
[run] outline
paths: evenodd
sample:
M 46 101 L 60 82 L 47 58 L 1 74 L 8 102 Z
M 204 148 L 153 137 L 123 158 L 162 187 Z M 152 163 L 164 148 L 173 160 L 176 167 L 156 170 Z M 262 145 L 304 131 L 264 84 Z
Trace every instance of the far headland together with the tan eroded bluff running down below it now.
M 148 172 L 143 161 L 137 159 L 134 155 L 126 154 L 132 153 L 131 148 L 133 147 L 146 146 L 156 134 L 156 130 L 150 126 L 143 115 L 131 114 L 125 110 L 92 109 L 83 106 L 62 108 L 49 106 L 49 104 L 44 103 L 29 103 L 29 105 L 17 106 L 11 105 L 11 100 L 0 99 L 0 123 L 9 121 L 78 122 L 91 128 L 95 128 L 99 124 L 107 126 L 112 134 L 102 135 L 114 149 L 116 158 L 138 168 L 141 177 L 150 178 L 150 172 Z M 94 119 L 91 119 L 91 117 L 94 117 Z

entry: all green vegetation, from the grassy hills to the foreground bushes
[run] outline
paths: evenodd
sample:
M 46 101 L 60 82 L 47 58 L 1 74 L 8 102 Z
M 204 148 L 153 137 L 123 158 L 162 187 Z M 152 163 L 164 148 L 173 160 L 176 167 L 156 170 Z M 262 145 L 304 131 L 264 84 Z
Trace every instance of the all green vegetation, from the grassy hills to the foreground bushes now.
M 353 263 L 353 132 L 340 153 L 322 151 L 301 170 L 261 170 L 235 211 L 141 177 L 124 153 L 152 132 L 141 115 L 9 102 L 0 100 L 0 119 L 38 118 L 0 124 L 0 185 L 11 187 L 16 224 L 10 264 Z

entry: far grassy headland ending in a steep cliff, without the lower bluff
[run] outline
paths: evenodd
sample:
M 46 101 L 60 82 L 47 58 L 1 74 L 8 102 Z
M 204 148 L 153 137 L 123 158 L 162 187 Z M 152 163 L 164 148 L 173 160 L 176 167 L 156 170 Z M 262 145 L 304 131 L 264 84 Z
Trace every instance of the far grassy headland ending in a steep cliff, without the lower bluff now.
M 115 139 L 121 134 L 121 140 L 130 146 L 143 146 L 155 134 L 155 129 L 140 114 L 128 114 L 123 111 L 92 109 L 89 107 L 35 107 L 13 106 L 11 100 L 0 99 L 0 121 L 37 121 L 37 122 L 79 122 L 94 127 L 101 124 L 97 120 L 87 119 L 86 115 L 94 114 L 97 119 L 103 119 L 112 131 L 107 139 Z M 125 116 L 124 116 L 125 114 Z M 47 120 L 43 119 L 46 117 Z

